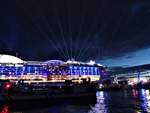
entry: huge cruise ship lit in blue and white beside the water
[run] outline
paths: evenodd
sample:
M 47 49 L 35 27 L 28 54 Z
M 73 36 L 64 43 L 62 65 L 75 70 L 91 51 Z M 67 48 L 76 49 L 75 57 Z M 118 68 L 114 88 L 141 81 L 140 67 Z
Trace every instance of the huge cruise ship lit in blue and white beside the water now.
M 97 81 L 105 74 L 104 67 L 94 61 L 23 61 L 14 56 L 0 55 L 0 79 L 64 81 L 90 78 Z

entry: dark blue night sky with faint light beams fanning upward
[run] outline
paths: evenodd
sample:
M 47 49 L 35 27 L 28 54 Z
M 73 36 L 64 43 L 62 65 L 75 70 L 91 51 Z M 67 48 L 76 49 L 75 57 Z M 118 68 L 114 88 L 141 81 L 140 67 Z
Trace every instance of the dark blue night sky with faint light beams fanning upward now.
M 1 0 L 0 53 L 108 66 L 150 63 L 150 1 L 135 1 Z

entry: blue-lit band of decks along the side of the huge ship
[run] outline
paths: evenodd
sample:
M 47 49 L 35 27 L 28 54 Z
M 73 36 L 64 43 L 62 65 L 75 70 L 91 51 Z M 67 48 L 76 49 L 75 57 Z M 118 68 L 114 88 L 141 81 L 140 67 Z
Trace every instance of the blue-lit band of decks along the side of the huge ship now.
M 14 75 L 14 76 L 23 76 L 27 74 L 31 75 L 96 75 L 104 74 L 101 72 L 101 68 L 96 66 L 85 66 L 85 65 L 68 65 L 61 69 L 54 69 L 44 67 L 42 65 L 23 65 L 23 66 L 0 66 L 1 75 Z

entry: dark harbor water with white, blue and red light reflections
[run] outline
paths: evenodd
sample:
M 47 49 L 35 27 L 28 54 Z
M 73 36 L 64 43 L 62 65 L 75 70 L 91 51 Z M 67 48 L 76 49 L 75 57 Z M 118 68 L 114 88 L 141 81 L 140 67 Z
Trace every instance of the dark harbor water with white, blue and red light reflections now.
M 95 102 L 1 103 L 0 113 L 150 113 L 150 90 L 98 91 L 96 95 Z

